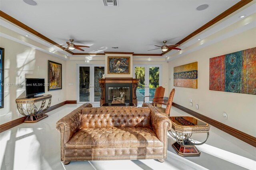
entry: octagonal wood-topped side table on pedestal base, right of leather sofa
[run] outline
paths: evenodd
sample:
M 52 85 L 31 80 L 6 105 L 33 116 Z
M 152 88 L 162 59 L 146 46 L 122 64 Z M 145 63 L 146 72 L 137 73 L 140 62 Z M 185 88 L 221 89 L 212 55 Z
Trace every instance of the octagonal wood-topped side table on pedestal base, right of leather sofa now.
M 199 119 L 188 116 L 169 117 L 172 122 L 172 129 L 175 135 L 168 130 L 169 134 L 176 139 L 172 147 L 180 156 L 200 156 L 201 152 L 195 145 L 201 145 L 206 142 L 209 137 L 210 125 Z M 193 133 L 207 133 L 206 140 L 201 143 L 195 143 L 191 139 Z

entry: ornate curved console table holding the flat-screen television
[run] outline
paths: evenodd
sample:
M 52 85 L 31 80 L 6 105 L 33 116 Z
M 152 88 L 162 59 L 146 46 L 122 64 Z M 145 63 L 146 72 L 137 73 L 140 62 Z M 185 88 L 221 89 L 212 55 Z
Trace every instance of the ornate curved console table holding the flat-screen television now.
M 46 100 L 48 100 L 48 105 L 44 109 Z M 37 102 L 42 102 L 39 109 L 35 105 L 35 103 Z M 43 95 L 43 96 L 34 97 L 34 98 L 24 97 L 24 98 L 16 99 L 18 111 L 20 112 L 20 114 L 27 116 L 27 119 L 24 121 L 24 123 L 36 123 L 48 117 L 48 115 L 43 114 L 42 112 L 46 111 L 50 107 L 51 102 L 52 102 L 52 95 Z M 24 106 L 25 106 L 25 109 L 24 109 Z

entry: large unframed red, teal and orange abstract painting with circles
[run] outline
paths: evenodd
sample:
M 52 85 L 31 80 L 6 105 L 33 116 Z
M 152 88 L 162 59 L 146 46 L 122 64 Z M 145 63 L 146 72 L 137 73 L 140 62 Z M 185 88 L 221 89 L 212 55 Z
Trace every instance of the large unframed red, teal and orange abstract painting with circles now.
M 256 95 L 256 47 L 210 58 L 209 89 Z

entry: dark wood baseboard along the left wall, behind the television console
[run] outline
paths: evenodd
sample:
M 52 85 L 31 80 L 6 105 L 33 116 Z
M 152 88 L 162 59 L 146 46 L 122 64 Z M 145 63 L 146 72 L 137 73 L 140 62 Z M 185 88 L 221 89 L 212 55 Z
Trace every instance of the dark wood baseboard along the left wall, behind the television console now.
M 66 105 L 66 104 L 76 104 L 76 100 L 67 100 L 67 101 L 58 103 L 57 105 L 49 107 L 46 111 L 44 111 L 42 113 L 48 113 L 48 112 L 50 112 L 50 111 L 52 111 L 54 109 L 57 109 L 59 107 L 62 107 L 64 105 Z M 26 116 L 20 117 L 18 119 L 15 119 L 13 121 L 10 121 L 10 122 L 7 122 L 7 123 L 4 123 L 4 124 L 0 125 L 0 133 L 4 132 L 5 130 L 8 130 L 10 128 L 16 127 L 16 126 L 24 123 L 26 118 L 27 118 Z

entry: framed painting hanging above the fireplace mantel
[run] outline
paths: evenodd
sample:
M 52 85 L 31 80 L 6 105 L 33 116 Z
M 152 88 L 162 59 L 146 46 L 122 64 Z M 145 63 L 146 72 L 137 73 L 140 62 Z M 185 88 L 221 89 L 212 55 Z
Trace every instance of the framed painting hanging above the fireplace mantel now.
M 108 74 L 130 74 L 130 57 L 108 57 Z

